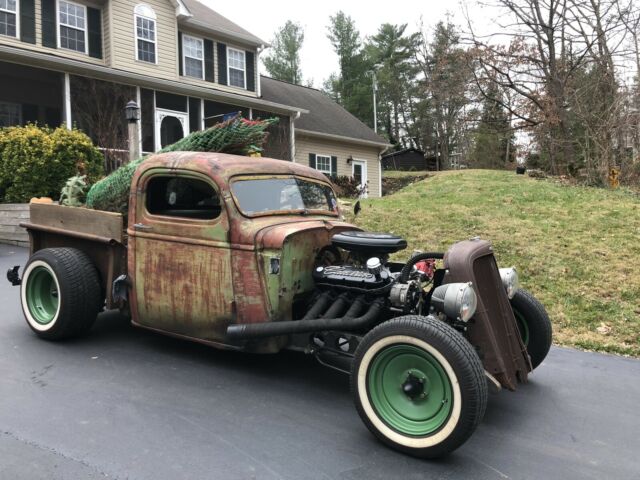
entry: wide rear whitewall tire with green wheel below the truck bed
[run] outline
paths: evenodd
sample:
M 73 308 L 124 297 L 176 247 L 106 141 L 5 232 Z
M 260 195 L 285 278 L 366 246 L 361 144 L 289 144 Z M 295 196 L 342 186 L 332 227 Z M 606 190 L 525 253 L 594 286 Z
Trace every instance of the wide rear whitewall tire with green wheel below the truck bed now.
M 62 340 L 87 332 L 102 300 L 100 276 L 75 248 L 46 248 L 25 266 L 20 300 L 27 324 L 40 338 Z

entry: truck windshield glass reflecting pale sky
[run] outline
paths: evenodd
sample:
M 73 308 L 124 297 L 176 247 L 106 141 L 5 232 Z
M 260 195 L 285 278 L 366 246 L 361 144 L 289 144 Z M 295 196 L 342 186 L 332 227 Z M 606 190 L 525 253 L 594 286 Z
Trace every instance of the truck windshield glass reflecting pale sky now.
M 329 185 L 299 177 L 241 179 L 232 183 L 231 190 L 242 213 L 249 216 L 338 214 L 338 202 Z

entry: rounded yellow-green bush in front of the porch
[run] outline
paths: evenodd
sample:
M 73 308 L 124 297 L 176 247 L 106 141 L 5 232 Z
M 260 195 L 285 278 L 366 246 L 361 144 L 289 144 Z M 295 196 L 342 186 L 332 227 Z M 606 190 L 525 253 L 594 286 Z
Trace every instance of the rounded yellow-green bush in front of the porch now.
M 86 175 L 88 183 L 103 175 L 102 154 L 81 131 L 37 125 L 0 129 L 0 201 L 57 199 L 74 175 Z

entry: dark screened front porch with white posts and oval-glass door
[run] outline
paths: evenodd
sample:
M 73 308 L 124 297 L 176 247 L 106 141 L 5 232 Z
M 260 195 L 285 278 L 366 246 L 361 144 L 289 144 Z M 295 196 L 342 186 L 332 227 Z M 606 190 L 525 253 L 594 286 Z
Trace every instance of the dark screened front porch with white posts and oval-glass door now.
M 103 151 L 107 172 L 128 159 L 124 106 L 129 100 L 140 106 L 139 147 L 144 153 L 240 112 L 249 119 L 279 117 L 280 122 L 270 128 L 264 156 L 293 158 L 288 115 L 14 63 L 0 62 L 0 72 L 0 127 L 38 123 L 79 128 Z

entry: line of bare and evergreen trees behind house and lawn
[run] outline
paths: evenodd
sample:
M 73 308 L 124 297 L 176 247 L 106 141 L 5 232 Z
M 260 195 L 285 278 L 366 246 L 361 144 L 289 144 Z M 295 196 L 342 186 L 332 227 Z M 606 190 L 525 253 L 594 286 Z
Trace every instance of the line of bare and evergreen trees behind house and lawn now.
M 450 18 L 431 29 L 380 25 L 363 37 L 344 12 L 327 36 L 338 71 L 327 95 L 396 150 L 415 147 L 440 168 L 517 162 L 589 184 L 612 168 L 640 180 L 640 8 L 634 0 L 495 0 L 495 32 Z M 264 60 L 303 83 L 304 31 L 287 22 Z M 629 74 L 629 72 L 633 72 Z M 517 141 L 516 141 L 517 139 Z

